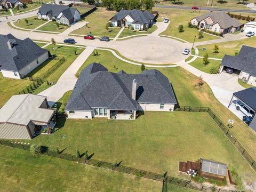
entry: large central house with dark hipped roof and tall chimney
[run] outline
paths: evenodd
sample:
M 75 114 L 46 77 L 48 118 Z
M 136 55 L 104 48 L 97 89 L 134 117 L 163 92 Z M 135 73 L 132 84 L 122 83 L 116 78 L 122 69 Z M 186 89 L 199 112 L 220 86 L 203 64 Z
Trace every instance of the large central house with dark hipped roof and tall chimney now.
M 80 74 L 65 110 L 68 118 L 135 119 L 136 111 L 173 111 L 169 79 L 152 69 L 141 74 L 111 73 L 91 63 Z

